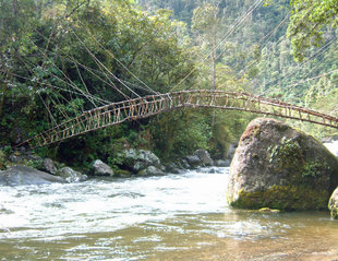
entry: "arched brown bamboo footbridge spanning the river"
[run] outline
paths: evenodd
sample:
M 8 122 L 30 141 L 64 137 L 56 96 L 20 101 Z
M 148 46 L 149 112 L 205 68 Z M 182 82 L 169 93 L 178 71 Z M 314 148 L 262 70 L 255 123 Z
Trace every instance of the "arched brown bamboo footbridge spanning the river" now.
M 39 133 L 17 146 L 28 145 L 31 149 L 47 146 L 124 121 L 137 120 L 184 108 L 218 108 L 249 111 L 338 129 L 338 117 L 305 107 L 248 93 L 198 90 L 148 95 L 97 107 Z

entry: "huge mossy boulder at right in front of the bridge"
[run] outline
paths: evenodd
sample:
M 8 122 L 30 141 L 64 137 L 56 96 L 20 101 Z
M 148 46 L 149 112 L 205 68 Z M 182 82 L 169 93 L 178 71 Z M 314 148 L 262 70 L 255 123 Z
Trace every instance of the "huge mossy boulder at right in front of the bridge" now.
M 321 210 L 338 185 L 338 159 L 316 139 L 255 119 L 230 166 L 228 201 L 244 209 Z

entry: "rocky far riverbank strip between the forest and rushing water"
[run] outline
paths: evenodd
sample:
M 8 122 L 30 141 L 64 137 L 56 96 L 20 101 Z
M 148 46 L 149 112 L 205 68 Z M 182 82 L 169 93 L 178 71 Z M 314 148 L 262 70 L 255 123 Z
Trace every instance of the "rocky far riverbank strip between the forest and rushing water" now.
M 229 166 L 230 161 L 214 161 L 205 150 L 179 161 L 162 164 L 150 151 L 129 149 L 122 151 L 116 164 L 109 166 L 101 159 L 93 161 L 89 169 L 73 169 L 51 158 L 41 158 L 29 151 L 7 154 L 0 151 L 0 186 L 40 185 L 46 182 L 79 182 L 90 177 L 162 176 L 180 174 L 204 166 Z

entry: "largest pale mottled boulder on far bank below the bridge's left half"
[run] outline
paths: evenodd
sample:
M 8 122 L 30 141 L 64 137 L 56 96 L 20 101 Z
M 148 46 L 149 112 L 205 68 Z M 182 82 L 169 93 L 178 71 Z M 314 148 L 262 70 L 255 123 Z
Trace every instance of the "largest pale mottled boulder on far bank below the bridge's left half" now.
M 138 173 L 149 166 L 161 167 L 159 158 L 149 151 L 129 149 L 123 151 L 119 156 L 121 165 L 124 168 L 131 169 L 133 173 Z

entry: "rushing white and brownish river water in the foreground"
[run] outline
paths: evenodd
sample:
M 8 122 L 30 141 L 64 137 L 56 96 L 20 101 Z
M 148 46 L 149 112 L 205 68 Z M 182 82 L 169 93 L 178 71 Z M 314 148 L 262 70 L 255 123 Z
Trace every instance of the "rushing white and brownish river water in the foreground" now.
M 0 260 L 338 260 L 328 212 L 233 210 L 209 170 L 0 187 Z

